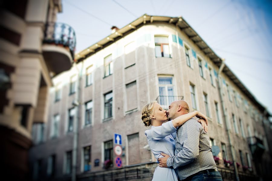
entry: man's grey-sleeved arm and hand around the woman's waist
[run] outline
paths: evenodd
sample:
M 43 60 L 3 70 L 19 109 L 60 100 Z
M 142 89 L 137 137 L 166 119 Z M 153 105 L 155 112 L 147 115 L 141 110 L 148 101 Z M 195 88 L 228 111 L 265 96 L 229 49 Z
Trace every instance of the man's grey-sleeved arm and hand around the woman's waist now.
M 189 120 L 180 127 L 177 138 L 183 138 L 184 144 L 182 150 L 173 157 L 159 158 L 160 167 L 173 167 L 176 169 L 192 162 L 199 154 L 199 135 L 200 130 L 195 120 Z M 176 138 L 176 139 L 177 139 Z M 163 154 L 162 154 L 163 155 Z M 164 156 L 164 155 L 163 155 Z

